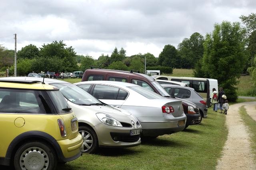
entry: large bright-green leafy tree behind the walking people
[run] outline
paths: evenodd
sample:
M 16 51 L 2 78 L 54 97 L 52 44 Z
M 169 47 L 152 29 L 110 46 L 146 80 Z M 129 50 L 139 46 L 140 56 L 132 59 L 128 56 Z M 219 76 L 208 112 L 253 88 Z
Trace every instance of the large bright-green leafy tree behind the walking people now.
M 214 30 L 206 34 L 202 71 L 204 77 L 218 80 L 228 100 L 237 98 L 236 84 L 247 61 L 245 53 L 245 29 L 240 23 L 223 21 L 215 24 Z

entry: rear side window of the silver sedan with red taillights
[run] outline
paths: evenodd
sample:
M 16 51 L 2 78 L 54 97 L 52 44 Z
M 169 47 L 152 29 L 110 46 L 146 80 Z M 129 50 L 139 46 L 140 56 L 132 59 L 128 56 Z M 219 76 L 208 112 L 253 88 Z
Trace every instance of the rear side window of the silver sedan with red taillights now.
M 128 96 L 128 92 L 120 88 L 96 84 L 92 96 L 97 99 L 105 100 L 125 100 Z

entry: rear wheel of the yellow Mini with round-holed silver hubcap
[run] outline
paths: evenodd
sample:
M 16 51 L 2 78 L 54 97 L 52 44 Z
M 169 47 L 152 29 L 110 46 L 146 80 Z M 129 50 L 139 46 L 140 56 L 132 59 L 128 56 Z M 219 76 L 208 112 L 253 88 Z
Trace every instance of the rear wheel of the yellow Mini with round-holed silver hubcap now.
M 56 153 L 50 145 L 44 142 L 33 141 L 25 143 L 18 148 L 14 155 L 14 168 L 16 170 L 54 170 L 58 160 Z

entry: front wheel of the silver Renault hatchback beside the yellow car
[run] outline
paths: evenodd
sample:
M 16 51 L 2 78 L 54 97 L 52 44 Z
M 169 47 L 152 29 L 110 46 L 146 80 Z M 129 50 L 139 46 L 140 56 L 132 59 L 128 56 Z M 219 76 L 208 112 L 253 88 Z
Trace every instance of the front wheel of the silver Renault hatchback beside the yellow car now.
M 82 135 L 84 142 L 81 146 L 81 152 L 94 153 L 98 149 L 98 138 L 94 130 L 87 126 L 80 126 L 78 132 Z

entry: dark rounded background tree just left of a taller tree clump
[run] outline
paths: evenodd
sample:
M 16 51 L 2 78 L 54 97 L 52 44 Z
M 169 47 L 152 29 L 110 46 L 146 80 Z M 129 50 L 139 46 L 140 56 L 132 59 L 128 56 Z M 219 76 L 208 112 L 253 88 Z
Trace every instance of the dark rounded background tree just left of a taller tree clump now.
M 162 66 L 180 68 L 180 57 L 173 45 L 165 45 L 163 51 L 159 54 L 158 63 Z

